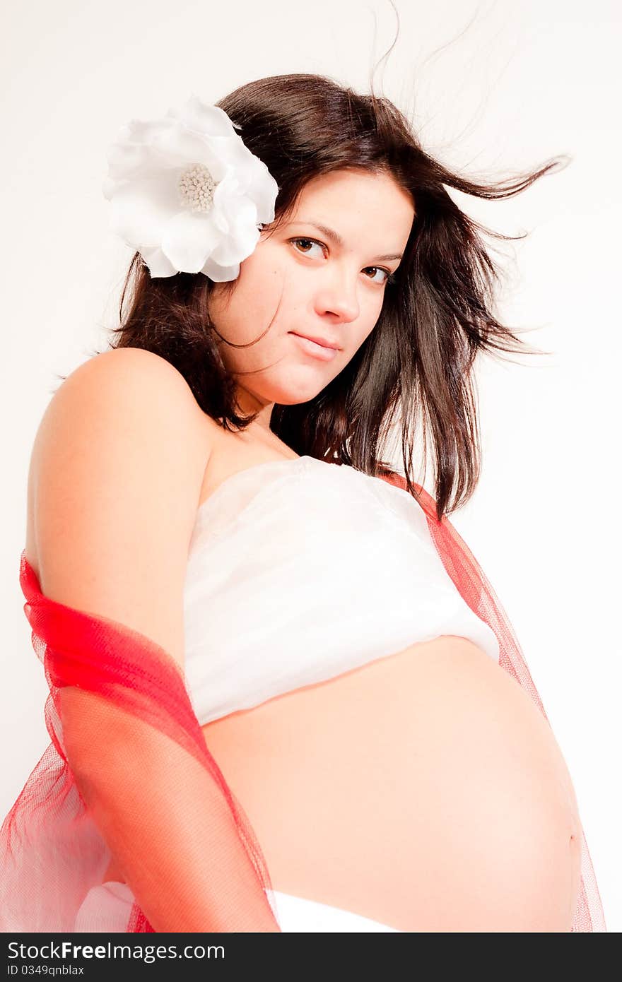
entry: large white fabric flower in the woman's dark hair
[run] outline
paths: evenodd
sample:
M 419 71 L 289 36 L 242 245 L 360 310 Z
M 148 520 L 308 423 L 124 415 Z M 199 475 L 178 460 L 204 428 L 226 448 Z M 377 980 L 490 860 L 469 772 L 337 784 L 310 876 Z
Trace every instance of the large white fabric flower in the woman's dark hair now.
M 278 186 L 234 126 L 193 95 L 163 119 L 131 120 L 108 150 L 110 227 L 151 277 L 235 280 L 259 227 L 274 221 Z

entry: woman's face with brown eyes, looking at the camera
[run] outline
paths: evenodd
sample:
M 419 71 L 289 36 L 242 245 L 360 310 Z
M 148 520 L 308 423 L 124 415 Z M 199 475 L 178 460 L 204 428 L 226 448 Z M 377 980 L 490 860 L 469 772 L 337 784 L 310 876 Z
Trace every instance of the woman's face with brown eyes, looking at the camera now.
M 221 343 L 244 411 L 264 410 L 268 425 L 274 403 L 308 402 L 348 364 L 378 319 L 414 217 L 392 178 L 341 170 L 311 180 L 286 224 L 263 229 L 233 293 L 215 284 L 209 298 L 226 342 L 247 344 L 270 325 L 249 348 Z

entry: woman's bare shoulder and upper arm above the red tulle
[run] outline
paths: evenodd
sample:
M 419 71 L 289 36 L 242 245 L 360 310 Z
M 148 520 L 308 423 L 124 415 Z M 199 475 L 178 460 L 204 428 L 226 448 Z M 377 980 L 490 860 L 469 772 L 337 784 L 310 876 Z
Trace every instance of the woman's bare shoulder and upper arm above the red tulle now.
M 202 415 L 165 359 L 97 355 L 50 401 L 28 476 L 26 556 L 43 592 L 142 631 L 180 662 L 209 453 Z

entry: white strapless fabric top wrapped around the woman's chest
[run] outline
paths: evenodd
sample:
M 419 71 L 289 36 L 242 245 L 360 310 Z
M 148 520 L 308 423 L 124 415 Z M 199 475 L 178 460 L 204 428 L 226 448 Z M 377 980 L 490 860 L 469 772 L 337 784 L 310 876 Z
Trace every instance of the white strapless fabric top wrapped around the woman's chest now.
M 441 634 L 499 657 L 415 498 L 313 457 L 254 464 L 203 502 L 184 618 L 201 726 Z

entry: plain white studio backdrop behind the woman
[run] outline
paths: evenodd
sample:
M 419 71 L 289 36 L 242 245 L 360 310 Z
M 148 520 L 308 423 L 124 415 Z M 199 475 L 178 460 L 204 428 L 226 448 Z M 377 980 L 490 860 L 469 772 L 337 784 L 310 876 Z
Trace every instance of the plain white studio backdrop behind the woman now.
M 395 6 L 400 34 L 375 82 L 414 116 L 428 152 L 490 180 L 573 158 L 511 201 L 451 191 L 484 224 L 529 233 L 495 245 L 500 316 L 553 352 L 481 361 L 481 482 L 452 520 L 516 629 L 619 931 L 620 9 Z M 18 579 L 32 441 L 57 374 L 105 345 L 132 254 L 107 229 L 108 145 L 130 118 L 267 75 L 317 72 L 365 91 L 396 29 L 387 0 L 33 0 L 5 5 L 3 19 L 2 816 L 48 742 Z

